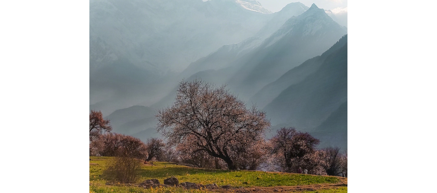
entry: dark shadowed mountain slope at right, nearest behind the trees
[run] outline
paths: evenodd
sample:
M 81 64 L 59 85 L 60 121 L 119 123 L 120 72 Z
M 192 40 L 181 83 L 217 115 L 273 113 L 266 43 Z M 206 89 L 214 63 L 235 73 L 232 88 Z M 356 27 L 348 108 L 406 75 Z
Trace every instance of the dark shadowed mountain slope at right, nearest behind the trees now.
M 304 64 L 287 72 L 287 76 L 280 78 L 281 81 L 270 85 L 280 90 L 284 80 L 291 83 L 264 108 L 272 125 L 293 125 L 318 136 L 322 136 L 321 133 L 343 133 L 347 128 L 347 36 L 322 56 Z M 293 79 L 292 75 L 303 71 L 305 67 L 309 74 L 305 78 L 298 77 L 302 80 Z M 270 88 L 264 89 L 265 96 Z M 344 147 L 347 143 L 344 136 L 347 135 L 342 136 L 342 139 L 326 144 Z

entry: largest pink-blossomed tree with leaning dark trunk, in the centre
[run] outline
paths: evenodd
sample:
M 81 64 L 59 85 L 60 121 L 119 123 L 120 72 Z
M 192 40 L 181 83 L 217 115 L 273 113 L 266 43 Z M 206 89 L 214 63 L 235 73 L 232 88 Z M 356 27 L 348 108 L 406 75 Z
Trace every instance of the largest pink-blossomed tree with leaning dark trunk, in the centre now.
M 195 139 L 194 152 L 220 158 L 228 169 L 236 169 L 236 160 L 232 159 L 236 146 L 256 141 L 270 128 L 266 113 L 255 105 L 247 109 L 225 85 L 216 88 L 197 79 L 181 81 L 174 104 L 159 110 L 156 116 L 157 130 L 170 144 Z

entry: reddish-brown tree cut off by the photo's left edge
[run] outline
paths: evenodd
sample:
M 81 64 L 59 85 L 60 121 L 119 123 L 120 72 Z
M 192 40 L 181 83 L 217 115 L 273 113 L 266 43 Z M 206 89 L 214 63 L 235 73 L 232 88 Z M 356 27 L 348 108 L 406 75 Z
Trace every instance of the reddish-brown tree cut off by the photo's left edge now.
M 90 141 L 96 139 L 103 132 L 111 132 L 112 127 L 109 119 L 103 119 L 101 111 L 90 112 Z

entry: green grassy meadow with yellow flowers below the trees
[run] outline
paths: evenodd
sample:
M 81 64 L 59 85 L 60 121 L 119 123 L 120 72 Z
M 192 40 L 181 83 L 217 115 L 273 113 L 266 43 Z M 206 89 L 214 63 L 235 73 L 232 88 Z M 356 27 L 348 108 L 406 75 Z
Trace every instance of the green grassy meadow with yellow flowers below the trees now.
M 209 192 L 209 190 L 185 190 L 183 188 L 158 188 L 143 189 L 131 186 L 108 186 L 105 183 L 111 181 L 102 178 L 103 170 L 111 157 L 90 157 L 90 193 L 177 193 L 177 192 Z M 92 164 L 92 165 L 91 165 Z M 228 185 L 234 187 L 271 187 L 271 186 L 301 186 L 321 183 L 338 183 L 340 179 L 334 176 L 313 176 L 293 173 L 267 173 L 260 171 L 229 171 L 203 168 L 191 168 L 187 166 L 176 165 L 176 163 L 156 162 L 155 166 L 143 165 L 140 172 L 140 179 L 137 183 L 145 179 L 159 179 L 160 183 L 170 176 L 176 176 L 179 183 L 192 182 L 211 184 L 217 183 L 218 186 Z M 112 190 L 112 191 L 111 191 Z M 339 191 L 347 192 L 346 189 Z M 319 191 L 320 192 L 320 191 Z M 322 193 L 322 192 L 320 192 Z M 324 192 L 323 192 L 324 193 Z M 328 193 L 328 192 L 327 192 Z

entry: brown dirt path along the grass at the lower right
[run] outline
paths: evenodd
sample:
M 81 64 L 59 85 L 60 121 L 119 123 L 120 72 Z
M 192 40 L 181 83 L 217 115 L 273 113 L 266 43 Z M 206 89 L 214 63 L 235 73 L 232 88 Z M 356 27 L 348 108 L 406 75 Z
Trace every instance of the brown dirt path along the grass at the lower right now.
M 260 187 L 252 186 L 249 188 L 233 188 L 233 189 L 216 189 L 208 190 L 218 193 L 276 193 L 276 192 L 302 192 L 302 191 L 314 191 L 322 189 L 338 189 L 342 186 L 347 186 L 347 178 L 338 177 L 340 179 L 339 183 L 321 183 L 312 185 L 302 185 L 302 186 L 272 186 L 272 187 Z

